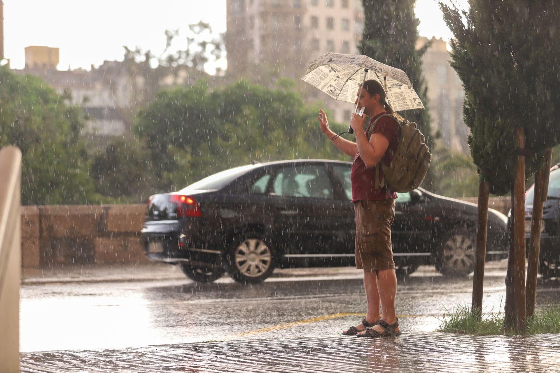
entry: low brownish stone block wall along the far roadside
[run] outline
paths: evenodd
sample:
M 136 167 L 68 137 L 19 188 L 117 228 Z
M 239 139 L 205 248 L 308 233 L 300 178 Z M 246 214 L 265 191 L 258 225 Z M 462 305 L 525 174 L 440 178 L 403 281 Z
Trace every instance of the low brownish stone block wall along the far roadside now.
M 507 214 L 510 199 L 493 197 L 489 207 Z M 144 204 L 22 206 L 22 267 L 148 263 L 140 240 L 145 210 Z

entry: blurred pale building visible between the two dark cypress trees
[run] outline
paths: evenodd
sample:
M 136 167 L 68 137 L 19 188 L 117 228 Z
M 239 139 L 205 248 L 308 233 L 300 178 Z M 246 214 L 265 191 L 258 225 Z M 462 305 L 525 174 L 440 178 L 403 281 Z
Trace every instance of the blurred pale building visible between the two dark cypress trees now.
M 432 45 L 422 58 L 422 68 L 428 86 L 432 128 L 441 132 L 443 144 L 452 152 L 466 154 L 469 152 L 466 143 L 469 128 L 463 121 L 463 83 L 450 65 L 447 42 L 435 37 L 430 41 Z M 419 37 L 417 48 L 422 48 L 426 43 L 427 37 Z

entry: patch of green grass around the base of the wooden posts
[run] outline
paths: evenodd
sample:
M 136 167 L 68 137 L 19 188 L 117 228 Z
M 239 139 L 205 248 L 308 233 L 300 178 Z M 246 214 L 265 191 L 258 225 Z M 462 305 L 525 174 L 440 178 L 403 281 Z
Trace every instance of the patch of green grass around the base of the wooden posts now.
M 470 306 L 459 305 L 455 310 L 445 309 L 444 317 L 440 320 L 440 327 L 436 332 L 470 334 L 473 336 L 492 336 L 505 333 L 504 318 L 500 304 L 500 311 L 493 309 L 483 312 L 482 318 L 475 317 L 470 312 Z M 535 311 L 532 318 L 527 319 L 526 334 L 560 333 L 560 306 L 552 305 Z M 515 333 L 508 333 L 515 334 Z

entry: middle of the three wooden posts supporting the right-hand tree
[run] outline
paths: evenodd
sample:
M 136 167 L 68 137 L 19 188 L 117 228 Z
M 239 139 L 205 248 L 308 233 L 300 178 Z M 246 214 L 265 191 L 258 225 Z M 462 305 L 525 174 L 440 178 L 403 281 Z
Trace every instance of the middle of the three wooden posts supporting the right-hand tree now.
M 525 133 L 516 130 L 517 148 L 525 148 Z M 525 333 L 527 309 L 525 307 L 525 157 L 517 155 L 515 173 L 515 322 L 516 332 Z

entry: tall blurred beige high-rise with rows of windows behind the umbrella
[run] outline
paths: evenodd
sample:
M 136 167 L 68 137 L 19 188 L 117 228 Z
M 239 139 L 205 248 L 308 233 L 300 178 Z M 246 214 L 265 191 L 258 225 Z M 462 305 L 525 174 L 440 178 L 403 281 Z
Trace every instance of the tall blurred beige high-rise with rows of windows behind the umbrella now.
M 227 0 L 228 75 L 273 70 L 299 79 L 322 54 L 357 54 L 362 29 L 361 0 Z M 306 97 L 324 100 L 339 122 L 353 109 L 316 89 Z

